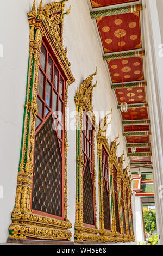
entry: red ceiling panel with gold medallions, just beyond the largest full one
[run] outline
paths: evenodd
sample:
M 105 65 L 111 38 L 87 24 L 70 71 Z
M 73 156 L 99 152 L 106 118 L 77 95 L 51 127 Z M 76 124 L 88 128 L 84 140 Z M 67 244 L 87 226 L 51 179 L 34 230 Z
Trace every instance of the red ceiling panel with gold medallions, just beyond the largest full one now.
M 142 57 L 122 59 L 122 69 L 121 59 L 108 60 L 108 67 L 112 83 L 121 83 L 122 74 L 123 82 L 144 80 Z

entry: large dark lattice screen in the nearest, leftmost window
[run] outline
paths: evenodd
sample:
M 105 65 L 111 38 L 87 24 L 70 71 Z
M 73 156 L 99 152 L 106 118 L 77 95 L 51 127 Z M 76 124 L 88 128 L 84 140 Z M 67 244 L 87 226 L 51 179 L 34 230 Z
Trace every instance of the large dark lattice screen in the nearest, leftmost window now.
M 32 209 L 62 216 L 62 159 L 52 115 L 35 136 Z

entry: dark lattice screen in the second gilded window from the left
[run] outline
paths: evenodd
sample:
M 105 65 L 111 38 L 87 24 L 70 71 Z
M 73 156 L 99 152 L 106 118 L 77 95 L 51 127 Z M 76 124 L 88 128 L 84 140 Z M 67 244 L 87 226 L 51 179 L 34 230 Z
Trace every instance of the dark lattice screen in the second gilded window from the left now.
M 86 224 L 95 224 L 93 208 L 93 186 L 88 161 L 83 174 L 83 221 Z

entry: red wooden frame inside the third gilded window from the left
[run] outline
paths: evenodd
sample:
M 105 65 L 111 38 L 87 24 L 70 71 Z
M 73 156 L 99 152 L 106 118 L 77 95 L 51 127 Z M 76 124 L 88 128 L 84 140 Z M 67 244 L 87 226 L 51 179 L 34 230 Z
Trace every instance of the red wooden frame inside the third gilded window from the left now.
M 103 178 L 103 185 L 105 187 L 106 184 L 106 188 L 108 191 L 108 199 L 109 199 L 109 211 L 110 211 L 110 193 L 109 193 L 109 166 L 108 166 L 108 159 L 109 159 L 109 155 L 104 147 L 104 145 L 102 145 L 102 178 Z M 103 193 L 104 193 L 104 187 L 103 187 Z M 110 213 L 109 213 L 110 215 Z M 111 220 L 110 220 L 111 221 Z M 110 228 L 111 228 L 111 222 L 110 222 Z M 110 230 L 109 230 L 110 231 Z

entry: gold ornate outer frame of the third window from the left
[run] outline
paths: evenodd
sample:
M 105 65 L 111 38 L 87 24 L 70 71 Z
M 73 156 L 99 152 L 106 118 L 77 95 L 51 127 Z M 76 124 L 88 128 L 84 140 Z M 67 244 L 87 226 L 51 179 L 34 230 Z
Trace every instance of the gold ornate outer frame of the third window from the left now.
M 112 109 L 110 114 L 112 113 Z M 109 115 L 109 114 L 108 114 Z M 98 158 L 98 188 L 99 188 L 99 234 L 102 242 L 114 242 L 114 233 L 112 232 L 112 213 L 111 213 L 111 200 L 109 197 L 109 205 L 110 205 L 110 231 L 105 230 L 104 228 L 104 199 L 103 199 L 103 178 L 102 178 L 102 147 L 105 148 L 106 153 L 108 153 L 108 167 L 109 167 L 109 158 L 111 155 L 110 146 L 108 143 L 108 138 L 106 137 L 107 133 L 107 119 L 108 115 L 102 119 L 99 124 L 99 130 L 97 133 L 97 158 Z M 111 123 L 111 121 L 110 121 Z M 109 168 L 108 168 L 109 169 Z M 109 177 L 109 173 L 108 173 Z M 109 179 L 110 185 L 110 179 Z M 109 187 L 109 195 L 110 195 L 110 187 Z

